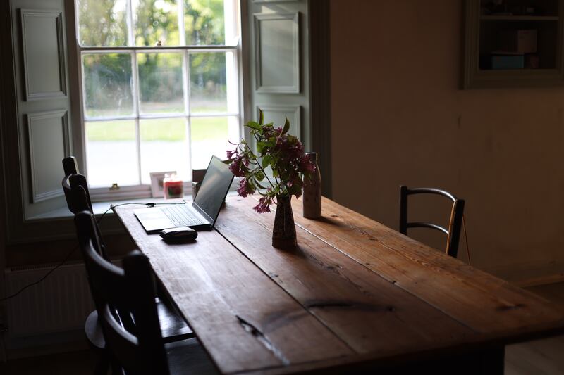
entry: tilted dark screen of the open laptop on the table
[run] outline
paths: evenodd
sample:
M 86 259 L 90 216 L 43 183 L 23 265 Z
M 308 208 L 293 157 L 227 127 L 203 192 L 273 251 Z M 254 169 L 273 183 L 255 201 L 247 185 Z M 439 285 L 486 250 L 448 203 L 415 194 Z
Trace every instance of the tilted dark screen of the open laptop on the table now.
M 216 156 L 212 156 L 194 201 L 194 204 L 213 220 L 212 224 L 217 220 L 233 177 L 229 167 Z

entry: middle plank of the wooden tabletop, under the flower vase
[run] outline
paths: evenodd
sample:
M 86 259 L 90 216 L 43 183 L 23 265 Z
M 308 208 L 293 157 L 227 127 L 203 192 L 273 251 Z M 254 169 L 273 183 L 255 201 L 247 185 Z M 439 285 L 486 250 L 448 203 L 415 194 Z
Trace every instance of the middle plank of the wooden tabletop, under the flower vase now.
M 274 213 L 232 198 L 216 229 L 357 353 L 386 357 L 444 348 L 475 333 L 298 228 L 298 248 L 271 247 Z M 242 223 L 244 223 L 242 225 Z

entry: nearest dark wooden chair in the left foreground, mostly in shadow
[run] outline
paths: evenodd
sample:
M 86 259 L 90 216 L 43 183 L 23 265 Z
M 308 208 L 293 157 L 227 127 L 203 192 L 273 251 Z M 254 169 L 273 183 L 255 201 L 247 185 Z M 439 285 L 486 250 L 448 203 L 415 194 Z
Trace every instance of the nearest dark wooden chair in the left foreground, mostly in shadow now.
M 147 257 L 135 250 L 123 259 L 123 269 L 116 267 L 99 253 L 94 215 L 79 212 L 75 225 L 114 373 L 217 374 L 195 338 L 164 343 Z M 124 317 L 135 322 L 133 331 L 123 324 Z

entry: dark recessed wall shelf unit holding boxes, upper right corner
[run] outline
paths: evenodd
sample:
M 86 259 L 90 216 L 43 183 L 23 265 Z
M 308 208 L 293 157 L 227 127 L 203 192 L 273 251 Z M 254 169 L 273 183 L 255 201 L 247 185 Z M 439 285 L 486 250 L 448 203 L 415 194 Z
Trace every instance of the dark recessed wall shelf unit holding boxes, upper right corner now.
M 465 0 L 462 88 L 564 85 L 564 0 L 503 0 L 508 8 L 527 5 L 539 12 L 530 15 L 486 13 L 491 4 Z M 511 44 L 515 50 L 508 49 L 507 35 L 517 40 L 523 32 L 534 32 L 534 39 L 529 36 L 534 51 L 522 50 L 517 42 Z

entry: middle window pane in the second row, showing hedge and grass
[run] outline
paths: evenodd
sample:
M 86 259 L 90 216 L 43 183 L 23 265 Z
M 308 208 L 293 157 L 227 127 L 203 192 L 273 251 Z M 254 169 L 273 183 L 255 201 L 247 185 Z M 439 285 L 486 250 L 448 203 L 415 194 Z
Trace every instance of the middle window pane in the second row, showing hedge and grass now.
M 142 113 L 184 113 L 182 53 L 139 53 Z

